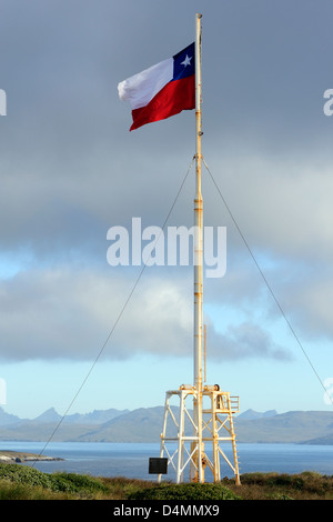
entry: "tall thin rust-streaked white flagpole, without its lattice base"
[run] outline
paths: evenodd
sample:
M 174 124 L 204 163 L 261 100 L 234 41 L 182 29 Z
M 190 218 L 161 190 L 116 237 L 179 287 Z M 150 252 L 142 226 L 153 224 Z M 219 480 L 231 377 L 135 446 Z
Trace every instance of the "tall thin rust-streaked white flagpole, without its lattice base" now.
M 194 199 L 194 422 L 196 424 L 196 452 L 194 462 L 196 472 L 192 470 L 192 480 L 203 482 L 203 443 L 202 443 L 202 344 L 203 344 L 203 202 L 201 193 L 201 18 L 196 13 L 195 27 L 195 199 Z

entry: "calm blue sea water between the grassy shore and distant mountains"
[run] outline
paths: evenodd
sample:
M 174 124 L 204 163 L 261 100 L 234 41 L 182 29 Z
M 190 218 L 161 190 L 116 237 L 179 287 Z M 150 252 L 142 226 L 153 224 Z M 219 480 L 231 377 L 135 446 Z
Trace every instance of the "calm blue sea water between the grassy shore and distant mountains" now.
M 149 458 L 159 456 L 159 443 L 109 443 L 109 442 L 50 442 L 44 449 L 42 442 L 0 442 L 0 450 L 40 453 L 58 456 L 63 461 L 34 462 L 33 466 L 44 473 L 67 471 L 93 476 L 125 476 L 129 479 L 154 480 L 149 474 Z M 44 451 L 43 451 L 44 449 Z M 231 448 L 225 450 L 232 459 Z M 333 445 L 305 444 L 238 444 L 240 473 L 279 472 L 300 473 L 315 471 L 333 475 Z M 221 476 L 233 476 L 224 461 Z M 21 465 L 21 464 L 20 464 Z M 24 463 L 22 465 L 31 465 Z M 164 480 L 173 480 L 169 466 Z

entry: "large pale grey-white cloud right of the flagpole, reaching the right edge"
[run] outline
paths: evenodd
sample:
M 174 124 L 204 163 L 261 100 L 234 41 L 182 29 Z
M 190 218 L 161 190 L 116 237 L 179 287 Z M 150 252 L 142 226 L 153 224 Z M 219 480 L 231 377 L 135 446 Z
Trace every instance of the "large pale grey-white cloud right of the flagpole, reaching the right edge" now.
M 234 160 L 215 158 L 210 171 L 250 247 L 271 252 L 276 261 L 332 259 L 329 163 L 311 155 L 297 163 L 294 158 L 272 163 L 270 157 L 250 154 Z M 209 178 L 205 183 L 209 219 L 228 223 L 231 244 L 243 249 L 213 182 Z

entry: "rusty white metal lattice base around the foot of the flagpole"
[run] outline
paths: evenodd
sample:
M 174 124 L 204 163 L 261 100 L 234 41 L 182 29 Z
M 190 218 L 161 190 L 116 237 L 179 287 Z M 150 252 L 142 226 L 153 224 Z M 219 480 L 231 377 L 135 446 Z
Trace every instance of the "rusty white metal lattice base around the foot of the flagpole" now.
M 233 472 L 236 484 L 240 484 L 233 426 L 233 414 L 239 411 L 239 398 L 231 396 L 229 392 L 221 391 L 220 387 L 214 384 L 203 387 L 202 399 L 202 403 L 206 401 L 206 404 L 202 409 L 200 439 L 195 413 L 191 410 L 193 402 L 198 400 L 195 388 L 182 384 L 179 390 L 167 392 L 160 456 L 167 455 L 169 465 L 175 472 L 176 483 L 184 482 L 186 469 L 190 469 L 190 480 L 193 482 L 205 482 L 205 475 L 210 475 L 213 482 L 219 482 L 222 472 L 221 462 L 224 461 Z M 228 442 L 231 443 L 229 455 L 224 448 Z M 198 458 L 200 448 L 201 460 Z

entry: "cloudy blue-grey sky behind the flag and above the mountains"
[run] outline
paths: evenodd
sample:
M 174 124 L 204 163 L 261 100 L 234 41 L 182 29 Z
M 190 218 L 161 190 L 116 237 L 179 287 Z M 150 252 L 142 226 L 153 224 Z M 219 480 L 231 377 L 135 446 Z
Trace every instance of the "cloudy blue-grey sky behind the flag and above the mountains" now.
M 111 267 L 107 235 L 170 210 L 193 224 L 194 111 L 129 132 L 118 83 L 194 41 L 196 12 L 204 224 L 226 228 L 225 274 L 203 283 L 206 383 L 241 412 L 332 411 L 332 2 L 2 0 L 8 413 L 162 405 L 193 381 L 193 267 Z

